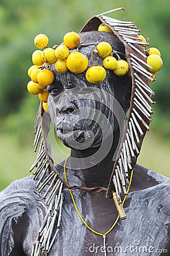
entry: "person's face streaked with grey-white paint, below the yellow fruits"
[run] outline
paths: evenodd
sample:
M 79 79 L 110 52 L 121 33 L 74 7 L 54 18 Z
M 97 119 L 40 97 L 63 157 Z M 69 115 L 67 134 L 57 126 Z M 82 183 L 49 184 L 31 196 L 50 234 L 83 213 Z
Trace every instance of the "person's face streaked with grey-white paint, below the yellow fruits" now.
M 82 86 L 82 80 L 49 89 L 48 109 L 57 137 L 67 147 L 99 147 L 113 133 L 112 94 L 103 88 Z

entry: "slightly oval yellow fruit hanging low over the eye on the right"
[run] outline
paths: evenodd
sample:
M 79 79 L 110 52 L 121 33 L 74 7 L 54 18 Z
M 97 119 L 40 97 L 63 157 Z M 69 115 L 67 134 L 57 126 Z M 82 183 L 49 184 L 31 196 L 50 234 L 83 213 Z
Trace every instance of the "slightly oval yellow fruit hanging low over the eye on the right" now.
M 103 82 L 107 73 L 105 69 L 101 66 L 92 66 L 87 69 L 86 79 L 91 84 L 99 84 L 99 82 Z

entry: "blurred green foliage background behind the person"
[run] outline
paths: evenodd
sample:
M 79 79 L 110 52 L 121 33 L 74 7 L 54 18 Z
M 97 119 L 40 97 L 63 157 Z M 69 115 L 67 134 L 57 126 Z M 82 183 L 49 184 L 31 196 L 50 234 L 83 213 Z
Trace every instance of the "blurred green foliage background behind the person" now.
M 66 32 L 79 32 L 91 16 L 117 7 L 125 7 L 126 12 L 111 16 L 134 21 L 141 34 L 150 38 L 150 47 L 157 47 L 162 53 L 163 68 L 151 83 L 157 101 L 153 106 L 155 114 L 138 163 L 170 176 L 169 5 L 169 0 L 1 0 L 0 190 L 12 180 L 29 175 L 29 167 L 36 158 L 32 146 L 33 122 L 39 100 L 26 89 L 27 69 L 36 49 L 33 38 L 44 33 L 52 47 L 62 42 Z M 65 155 L 58 150 L 55 159 L 62 158 Z

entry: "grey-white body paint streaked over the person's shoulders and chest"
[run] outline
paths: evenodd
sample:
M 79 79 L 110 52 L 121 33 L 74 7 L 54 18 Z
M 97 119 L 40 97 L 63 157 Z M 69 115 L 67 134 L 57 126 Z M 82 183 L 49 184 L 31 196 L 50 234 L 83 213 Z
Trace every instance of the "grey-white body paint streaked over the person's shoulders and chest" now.
M 148 171 L 148 173 L 152 174 L 152 177 L 156 175 L 154 172 Z M 159 174 L 156 177 L 159 181 L 163 178 Z M 67 178 L 70 180 L 70 184 L 74 182 L 80 185 L 79 177 L 76 174 L 73 175 L 73 173 L 69 174 L 68 172 Z M 156 253 L 156 249 L 163 250 L 169 241 L 169 184 L 169 179 L 164 177 L 163 183 L 129 193 L 124 205 L 127 219 L 119 220 L 112 232 L 108 234 L 107 255 L 163 255 Z M 92 207 L 94 197 L 97 196 L 96 193 L 80 191 L 73 193 L 76 205 L 88 225 L 95 230 L 98 229 L 99 232 L 105 232 L 113 224 L 115 218 L 113 218 L 112 200 L 106 199 L 108 208 L 105 207 L 103 213 L 99 214 L 96 212 L 97 208 Z M 86 228 L 75 211 L 69 191 L 64 191 L 64 194 L 61 230 L 49 256 L 103 256 L 103 238 Z M 0 200 L 1 255 L 30 256 L 33 241 L 35 241 L 46 212 L 44 200 L 36 191 L 35 181 L 32 181 L 31 176 L 14 181 L 0 193 Z M 14 245 L 14 237 L 17 233 L 17 230 L 12 229 L 12 221 L 15 221 L 18 229 L 20 225 L 25 223 L 22 226 L 23 233 L 20 234 L 20 246 L 23 247 L 24 254 L 11 253 L 16 246 Z M 135 245 L 137 241 L 139 244 Z M 144 251 L 143 253 L 139 250 L 147 250 L 147 252 Z

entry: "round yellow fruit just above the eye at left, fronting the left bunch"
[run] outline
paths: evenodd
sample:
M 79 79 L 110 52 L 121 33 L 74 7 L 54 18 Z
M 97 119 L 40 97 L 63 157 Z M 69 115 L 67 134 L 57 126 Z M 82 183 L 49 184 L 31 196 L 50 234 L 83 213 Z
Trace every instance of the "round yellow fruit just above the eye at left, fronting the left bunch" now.
M 48 86 L 54 81 L 54 74 L 49 69 L 42 69 L 37 75 L 37 80 L 40 85 Z

